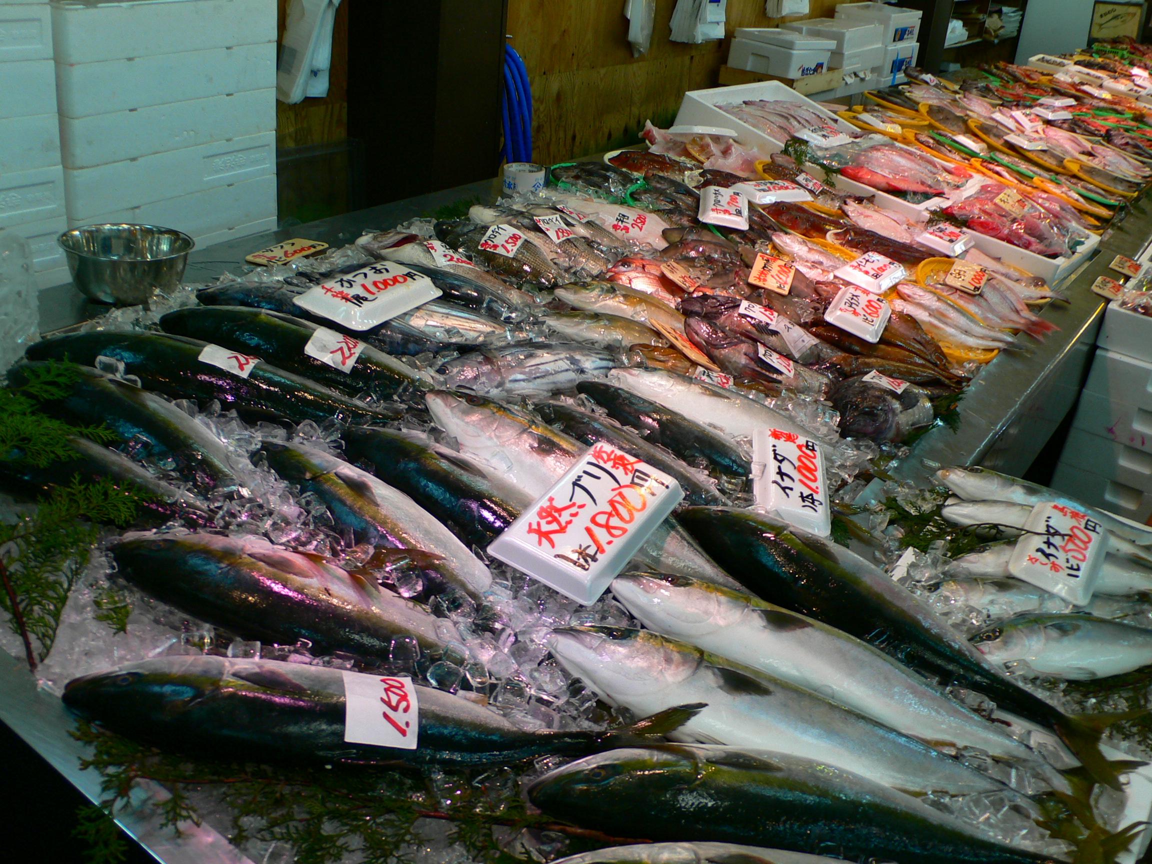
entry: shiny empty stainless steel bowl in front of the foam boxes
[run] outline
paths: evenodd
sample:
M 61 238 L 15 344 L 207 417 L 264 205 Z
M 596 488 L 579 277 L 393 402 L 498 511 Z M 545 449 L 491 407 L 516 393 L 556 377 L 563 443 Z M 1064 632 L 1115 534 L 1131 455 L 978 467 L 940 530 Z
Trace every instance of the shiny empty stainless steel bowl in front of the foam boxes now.
M 196 241 L 153 225 L 84 225 L 56 242 L 68 258 L 73 283 L 99 303 L 147 303 L 180 285 Z

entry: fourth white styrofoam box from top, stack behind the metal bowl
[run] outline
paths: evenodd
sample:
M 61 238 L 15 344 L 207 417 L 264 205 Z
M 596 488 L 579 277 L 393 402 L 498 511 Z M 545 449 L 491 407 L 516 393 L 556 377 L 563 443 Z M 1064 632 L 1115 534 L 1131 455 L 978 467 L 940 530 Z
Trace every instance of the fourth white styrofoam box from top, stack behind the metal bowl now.
M 275 173 L 276 135 L 260 132 L 232 141 L 153 153 L 139 159 L 65 170 L 68 221 L 151 204 L 213 187 Z

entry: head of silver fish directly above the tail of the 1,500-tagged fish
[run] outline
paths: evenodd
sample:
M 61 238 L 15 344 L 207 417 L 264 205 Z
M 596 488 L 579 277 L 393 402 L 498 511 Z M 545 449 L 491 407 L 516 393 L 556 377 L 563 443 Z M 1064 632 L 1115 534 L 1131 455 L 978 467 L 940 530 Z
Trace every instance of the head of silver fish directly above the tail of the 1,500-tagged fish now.
M 680 683 L 704 660 L 697 649 L 626 627 L 562 627 L 552 632 L 548 650 L 611 702 Z

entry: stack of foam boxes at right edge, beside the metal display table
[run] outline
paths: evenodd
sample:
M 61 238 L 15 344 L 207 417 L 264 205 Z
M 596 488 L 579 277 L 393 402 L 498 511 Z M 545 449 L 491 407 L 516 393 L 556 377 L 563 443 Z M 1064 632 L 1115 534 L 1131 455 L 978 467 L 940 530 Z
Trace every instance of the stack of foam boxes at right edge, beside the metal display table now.
M 1112 303 L 1054 488 L 1111 513 L 1152 516 L 1152 318 Z

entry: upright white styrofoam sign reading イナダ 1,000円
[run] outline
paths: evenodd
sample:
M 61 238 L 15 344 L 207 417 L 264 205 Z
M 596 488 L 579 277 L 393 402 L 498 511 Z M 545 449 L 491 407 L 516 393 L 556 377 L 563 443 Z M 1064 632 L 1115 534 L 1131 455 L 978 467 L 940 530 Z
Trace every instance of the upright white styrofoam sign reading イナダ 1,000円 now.
M 752 461 L 764 467 L 752 480 L 758 505 L 805 531 L 832 533 L 819 442 L 782 429 L 758 429 L 752 433 Z

